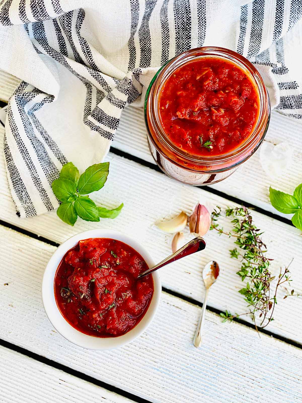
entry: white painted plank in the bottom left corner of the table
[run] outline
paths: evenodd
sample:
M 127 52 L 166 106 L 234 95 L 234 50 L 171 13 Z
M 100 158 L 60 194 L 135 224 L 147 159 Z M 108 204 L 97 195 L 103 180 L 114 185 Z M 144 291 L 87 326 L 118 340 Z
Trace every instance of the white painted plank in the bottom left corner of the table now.
M 100 386 L 0 347 L 0 402 L 131 403 Z

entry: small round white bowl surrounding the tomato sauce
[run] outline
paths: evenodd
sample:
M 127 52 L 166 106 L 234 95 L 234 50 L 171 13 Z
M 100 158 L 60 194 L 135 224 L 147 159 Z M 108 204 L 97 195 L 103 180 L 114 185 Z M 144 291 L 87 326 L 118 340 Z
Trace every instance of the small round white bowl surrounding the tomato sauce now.
M 54 252 L 52 257 L 50 258 L 42 281 L 42 300 L 44 309 L 46 314 L 52 322 L 53 326 L 58 330 L 60 334 L 62 334 L 65 339 L 71 341 L 72 343 L 84 347 L 87 349 L 94 350 L 108 350 L 115 349 L 120 347 L 126 343 L 130 343 L 130 341 L 137 338 L 141 333 L 143 333 L 147 326 L 151 323 L 152 319 L 155 316 L 155 312 L 159 305 L 159 299 L 161 294 L 161 281 L 159 278 L 158 272 L 153 272 L 153 283 L 154 283 L 154 293 L 151 300 L 151 303 L 148 307 L 145 316 L 142 320 L 131 329 L 128 333 L 123 334 L 118 337 L 93 337 L 88 334 L 84 334 L 79 332 L 79 330 L 72 327 L 62 316 L 60 313 L 58 306 L 56 304 L 56 300 L 54 297 L 54 276 L 56 274 L 56 270 L 58 265 L 60 264 L 65 253 L 82 239 L 88 238 L 112 238 L 118 239 L 134 248 L 138 251 L 141 256 L 147 262 L 149 267 L 153 266 L 155 263 L 153 259 L 149 255 L 149 252 L 137 241 L 128 237 L 128 235 L 122 234 L 118 231 L 112 231 L 107 229 L 93 229 L 85 232 L 81 232 L 73 237 L 67 239 L 62 245 L 58 247 L 58 249 Z

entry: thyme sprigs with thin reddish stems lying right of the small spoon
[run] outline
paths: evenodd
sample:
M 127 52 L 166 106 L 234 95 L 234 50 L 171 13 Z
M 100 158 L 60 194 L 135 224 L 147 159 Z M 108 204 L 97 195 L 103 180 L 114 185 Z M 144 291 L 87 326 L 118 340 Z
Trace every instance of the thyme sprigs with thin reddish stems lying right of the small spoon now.
M 231 314 L 229 311 L 221 313 L 223 322 L 232 321 L 242 315 L 250 314 L 256 330 L 256 315 L 261 319 L 260 327 L 265 328 L 274 320 L 273 312 L 277 304 L 277 290 L 279 287 L 290 282 L 289 266 L 284 269 L 280 268 L 279 275 L 272 276 L 269 265 L 271 260 L 266 257 L 266 245 L 261 239 L 260 229 L 252 222 L 252 216 L 249 210 L 242 206 L 236 208 L 227 208 L 225 216 L 231 217 L 233 228 L 231 231 L 224 231 L 223 227 L 217 223 L 221 217 L 221 208 L 217 206 L 211 214 L 211 230 L 215 230 L 219 235 L 228 235 L 234 237 L 234 243 L 238 246 L 230 250 L 230 256 L 241 261 L 240 270 L 236 273 L 241 277 L 242 281 L 246 280 L 245 286 L 239 290 L 244 295 L 244 301 L 248 304 L 248 312 L 243 314 Z M 271 289 L 271 283 L 275 280 L 276 285 L 274 291 Z M 293 290 L 294 291 L 294 290 Z M 294 295 L 294 292 L 291 294 Z

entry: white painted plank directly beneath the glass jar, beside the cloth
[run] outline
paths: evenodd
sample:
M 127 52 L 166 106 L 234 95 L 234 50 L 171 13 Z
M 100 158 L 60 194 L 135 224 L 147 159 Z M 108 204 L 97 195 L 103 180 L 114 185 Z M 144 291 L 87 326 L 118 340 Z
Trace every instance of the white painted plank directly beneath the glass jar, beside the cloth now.
M 258 150 L 248 161 L 239 166 L 234 174 L 212 187 L 280 216 L 291 218 L 288 214 L 279 213 L 271 206 L 269 187 L 292 194 L 295 187 L 302 182 L 302 121 L 273 110 L 265 141 L 273 144 L 285 141 L 293 148 L 292 164 L 286 172 L 275 179 L 267 177 L 261 167 L 260 150 Z M 155 164 L 147 143 L 143 108 L 128 106 L 122 112 L 112 145 Z

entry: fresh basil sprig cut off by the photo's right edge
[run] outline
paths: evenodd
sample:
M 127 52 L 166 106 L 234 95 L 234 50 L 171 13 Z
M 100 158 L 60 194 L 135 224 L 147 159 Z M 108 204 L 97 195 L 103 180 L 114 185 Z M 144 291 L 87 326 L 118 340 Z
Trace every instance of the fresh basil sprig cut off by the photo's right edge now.
M 294 195 L 269 188 L 269 199 L 276 210 L 285 214 L 293 214 L 292 223 L 302 231 L 302 183 L 294 190 Z

